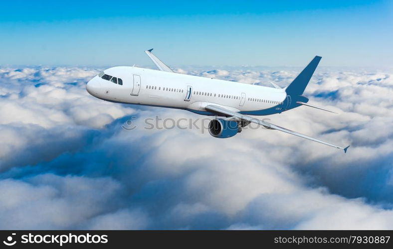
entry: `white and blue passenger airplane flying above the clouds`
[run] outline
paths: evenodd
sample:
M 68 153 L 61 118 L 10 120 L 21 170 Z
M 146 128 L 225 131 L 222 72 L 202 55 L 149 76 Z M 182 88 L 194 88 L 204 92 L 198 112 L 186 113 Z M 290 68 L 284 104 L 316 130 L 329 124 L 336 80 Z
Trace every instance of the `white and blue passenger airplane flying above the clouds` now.
M 341 147 L 250 117 L 279 114 L 300 106 L 331 112 L 309 104 L 309 99 L 302 95 L 322 57 L 315 56 L 289 86 L 280 88 L 274 83 L 273 87 L 265 87 L 175 73 L 152 50 L 145 53 L 159 70 L 135 65 L 108 68 L 87 83 L 87 92 L 114 103 L 175 108 L 215 116 L 208 124 L 208 131 L 217 138 L 232 137 L 242 127 L 255 123 L 347 152 L 349 146 Z

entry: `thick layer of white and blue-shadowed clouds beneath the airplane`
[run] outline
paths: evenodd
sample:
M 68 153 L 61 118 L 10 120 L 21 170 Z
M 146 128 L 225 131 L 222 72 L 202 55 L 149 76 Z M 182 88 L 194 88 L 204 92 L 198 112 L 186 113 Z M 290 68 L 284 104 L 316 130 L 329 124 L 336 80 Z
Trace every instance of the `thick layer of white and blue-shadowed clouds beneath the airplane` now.
M 266 86 L 297 74 L 179 71 Z M 98 72 L 0 68 L 1 229 L 393 229 L 392 73 L 319 69 L 305 95 L 339 115 L 264 117 L 344 154 L 265 129 L 145 129 L 203 117 L 95 99 Z

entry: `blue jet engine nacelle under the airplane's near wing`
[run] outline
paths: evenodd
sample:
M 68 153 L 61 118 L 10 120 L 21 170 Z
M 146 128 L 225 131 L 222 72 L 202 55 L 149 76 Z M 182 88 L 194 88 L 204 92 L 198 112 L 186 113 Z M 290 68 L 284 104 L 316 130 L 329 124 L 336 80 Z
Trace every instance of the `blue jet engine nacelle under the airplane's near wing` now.
M 209 133 L 214 137 L 227 138 L 240 131 L 239 123 L 234 120 L 214 119 L 209 122 Z

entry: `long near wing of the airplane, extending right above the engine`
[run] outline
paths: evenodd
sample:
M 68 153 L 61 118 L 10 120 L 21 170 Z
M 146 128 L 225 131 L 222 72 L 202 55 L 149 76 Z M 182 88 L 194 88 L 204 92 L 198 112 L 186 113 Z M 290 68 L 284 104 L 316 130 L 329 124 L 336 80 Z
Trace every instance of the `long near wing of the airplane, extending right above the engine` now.
M 298 132 L 290 130 L 290 129 L 286 129 L 286 128 L 280 127 L 280 126 L 275 125 L 275 124 L 271 124 L 271 123 L 268 123 L 268 122 L 265 122 L 265 121 L 262 121 L 262 120 L 258 120 L 258 119 L 252 118 L 252 117 L 247 116 L 247 115 L 242 115 L 240 113 L 229 111 L 229 110 L 227 110 L 225 108 L 222 108 L 222 107 L 208 105 L 208 106 L 205 107 L 205 109 L 206 109 L 206 111 L 209 111 L 209 112 L 212 112 L 212 113 L 224 115 L 226 117 L 235 117 L 235 118 L 238 118 L 240 120 L 247 121 L 247 122 L 260 124 L 260 125 L 268 128 L 268 129 L 280 130 L 280 131 L 283 131 L 283 132 L 286 132 L 286 133 L 289 133 L 289 134 L 292 134 L 292 135 L 295 135 L 295 136 L 300 136 L 300 137 L 303 137 L 303 138 L 306 138 L 306 139 L 309 139 L 309 140 L 312 140 L 312 141 L 315 141 L 315 142 L 319 142 L 319 143 L 322 143 L 322 144 L 326 144 L 326 145 L 329 145 L 329 146 L 332 146 L 332 147 L 335 147 L 335 148 L 338 148 L 338 149 L 343 149 L 345 153 L 347 153 L 347 149 L 349 147 L 349 146 L 347 146 L 347 147 L 344 148 L 344 147 L 341 147 L 341 146 L 338 146 L 338 145 L 335 145 L 335 144 L 332 144 L 332 143 L 328 143 L 328 142 L 319 140 L 317 138 L 314 138 L 314 137 L 311 137 L 311 136 L 308 136 L 308 135 L 304 135 L 304 134 L 298 133 Z

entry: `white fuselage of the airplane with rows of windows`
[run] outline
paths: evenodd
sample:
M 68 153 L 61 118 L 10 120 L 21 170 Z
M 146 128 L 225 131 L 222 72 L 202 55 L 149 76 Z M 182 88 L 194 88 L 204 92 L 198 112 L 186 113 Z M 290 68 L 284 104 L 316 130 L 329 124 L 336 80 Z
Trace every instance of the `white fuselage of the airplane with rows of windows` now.
M 204 114 L 204 107 L 211 104 L 235 112 L 272 108 L 275 113 L 285 111 L 287 94 L 283 89 L 138 67 L 113 67 L 104 73 L 120 78 L 123 85 L 97 75 L 86 89 L 91 95 L 107 101 L 179 108 L 200 114 Z

